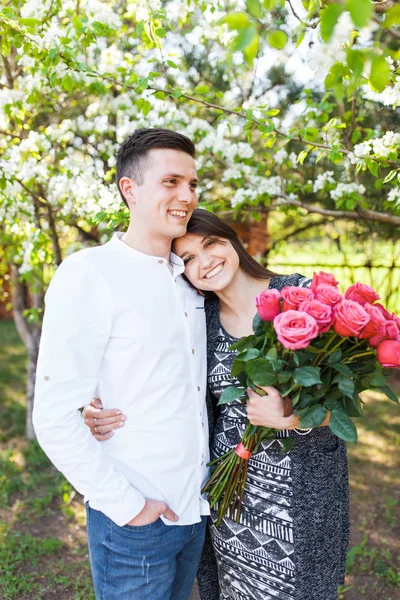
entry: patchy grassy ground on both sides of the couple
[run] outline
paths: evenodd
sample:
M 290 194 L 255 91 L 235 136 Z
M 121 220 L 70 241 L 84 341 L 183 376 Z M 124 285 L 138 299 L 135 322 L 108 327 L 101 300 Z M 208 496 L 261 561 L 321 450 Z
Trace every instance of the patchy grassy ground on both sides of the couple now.
M 0 321 L 0 340 L 0 598 L 92 600 L 82 499 L 24 438 L 25 351 L 12 322 Z M 338 599 L 400 600 L 400 408 L 377 393 L 364 400 Z

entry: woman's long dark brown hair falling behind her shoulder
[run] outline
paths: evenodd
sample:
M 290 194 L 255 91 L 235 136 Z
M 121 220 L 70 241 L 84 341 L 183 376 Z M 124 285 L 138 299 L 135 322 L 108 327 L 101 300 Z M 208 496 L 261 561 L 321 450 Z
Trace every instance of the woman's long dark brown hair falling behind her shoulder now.
M 276 275 L 265 269 L 247 252 L 236 231 L 222 219 L 202 208 L 195 208 L 187 226 L 187 233 L 204 237 L 217 237 L 228 240 L 237 252 L 241 269 L 255 279 L 269 279 Z

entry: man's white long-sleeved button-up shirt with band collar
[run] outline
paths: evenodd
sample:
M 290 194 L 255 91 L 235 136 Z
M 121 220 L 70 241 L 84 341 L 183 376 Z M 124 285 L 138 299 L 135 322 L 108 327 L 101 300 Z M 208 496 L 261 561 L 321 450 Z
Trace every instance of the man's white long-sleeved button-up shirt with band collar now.
M 209 514 L 200 495 L 209 461 L 204 300 L 179 257 L 171 254 L 171 274 L 165 259 L 121 236 L 68 257 L 50 284 L 34 426 L 55 466 L 118 525 L 145 498 L 164 500 L 188 525 Z M 78 411 L 95 395 L 128 417 L 102 443 Z

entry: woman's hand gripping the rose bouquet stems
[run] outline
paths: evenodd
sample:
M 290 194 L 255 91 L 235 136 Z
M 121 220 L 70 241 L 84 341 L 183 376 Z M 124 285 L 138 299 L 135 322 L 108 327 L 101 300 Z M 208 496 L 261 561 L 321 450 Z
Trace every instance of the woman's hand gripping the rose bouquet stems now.
M 297 429 L 300 419 L 293 414 L 290 398 L 282 398 L 279 391 L 271 386 L 260 386 L 266 396 L 259 396 L 251 388 L 247 393 L 247 416 L 252 425 L 273 427 L 275 429 Z

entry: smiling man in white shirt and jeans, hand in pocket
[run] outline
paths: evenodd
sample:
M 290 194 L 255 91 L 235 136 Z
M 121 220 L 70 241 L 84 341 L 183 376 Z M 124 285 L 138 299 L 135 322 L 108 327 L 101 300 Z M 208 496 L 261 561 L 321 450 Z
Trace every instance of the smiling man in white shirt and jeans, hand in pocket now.
M 130 225 L 68 257 L 46 296 L 34 426 L 87 501 L 97 599 L 187 600 L 208 503 L 202 298 L 171 253 L 197 205 L 195 148 L 165 129 L 117 155 Z M 98 444 L 78 409 L 96 393 L 129 417 Z

